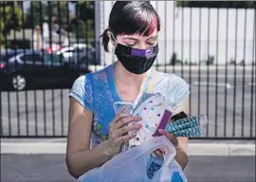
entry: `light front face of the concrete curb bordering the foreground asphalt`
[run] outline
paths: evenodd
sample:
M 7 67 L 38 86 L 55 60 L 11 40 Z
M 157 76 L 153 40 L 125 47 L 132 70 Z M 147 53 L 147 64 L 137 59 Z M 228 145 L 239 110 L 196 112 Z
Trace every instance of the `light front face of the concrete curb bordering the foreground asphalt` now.
M 64 142 L 1 142 L 1 155 L 65 155 L 65 148 Z M 255 144 L 189 143 L 188 155 L 255 156 Z

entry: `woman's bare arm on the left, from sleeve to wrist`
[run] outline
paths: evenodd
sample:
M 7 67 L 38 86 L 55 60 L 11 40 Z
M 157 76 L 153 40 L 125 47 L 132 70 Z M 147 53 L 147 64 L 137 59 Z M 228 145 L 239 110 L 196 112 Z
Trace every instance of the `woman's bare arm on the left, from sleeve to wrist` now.
M 101 166 L 112 156 L 106 153 L 106 142 L 90 150 L 93 115 L 72 97 L 68 120 L 65 160 L 68 172 L 78 178 L 83 173 Z

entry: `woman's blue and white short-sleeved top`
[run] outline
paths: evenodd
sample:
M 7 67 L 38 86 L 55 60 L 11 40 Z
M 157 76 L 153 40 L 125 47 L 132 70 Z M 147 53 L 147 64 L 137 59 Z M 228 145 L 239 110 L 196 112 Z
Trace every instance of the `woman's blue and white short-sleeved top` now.
M 100 144 L 108 138 L 109 122 L 115 118 L 114 103 L 122 101 L 116 87 L 114 64 L 110 64 L 100 71 L 87 73 L 78 78 L 71 88 L 69 97 L 78 100 L 84 108 L 93 114 L 93 128 L 91 131 L 91 147 Z M 145 91 L 150 82 L 152 69 L 148 71 L 142 91 Z M 189 85 L 174 74 L 158 72 L 153 93 L 160 93 L 172 100 L 174 108 L 179 109 L 190 94 Z M 134 101 L 137 104 L 140 95 Z

